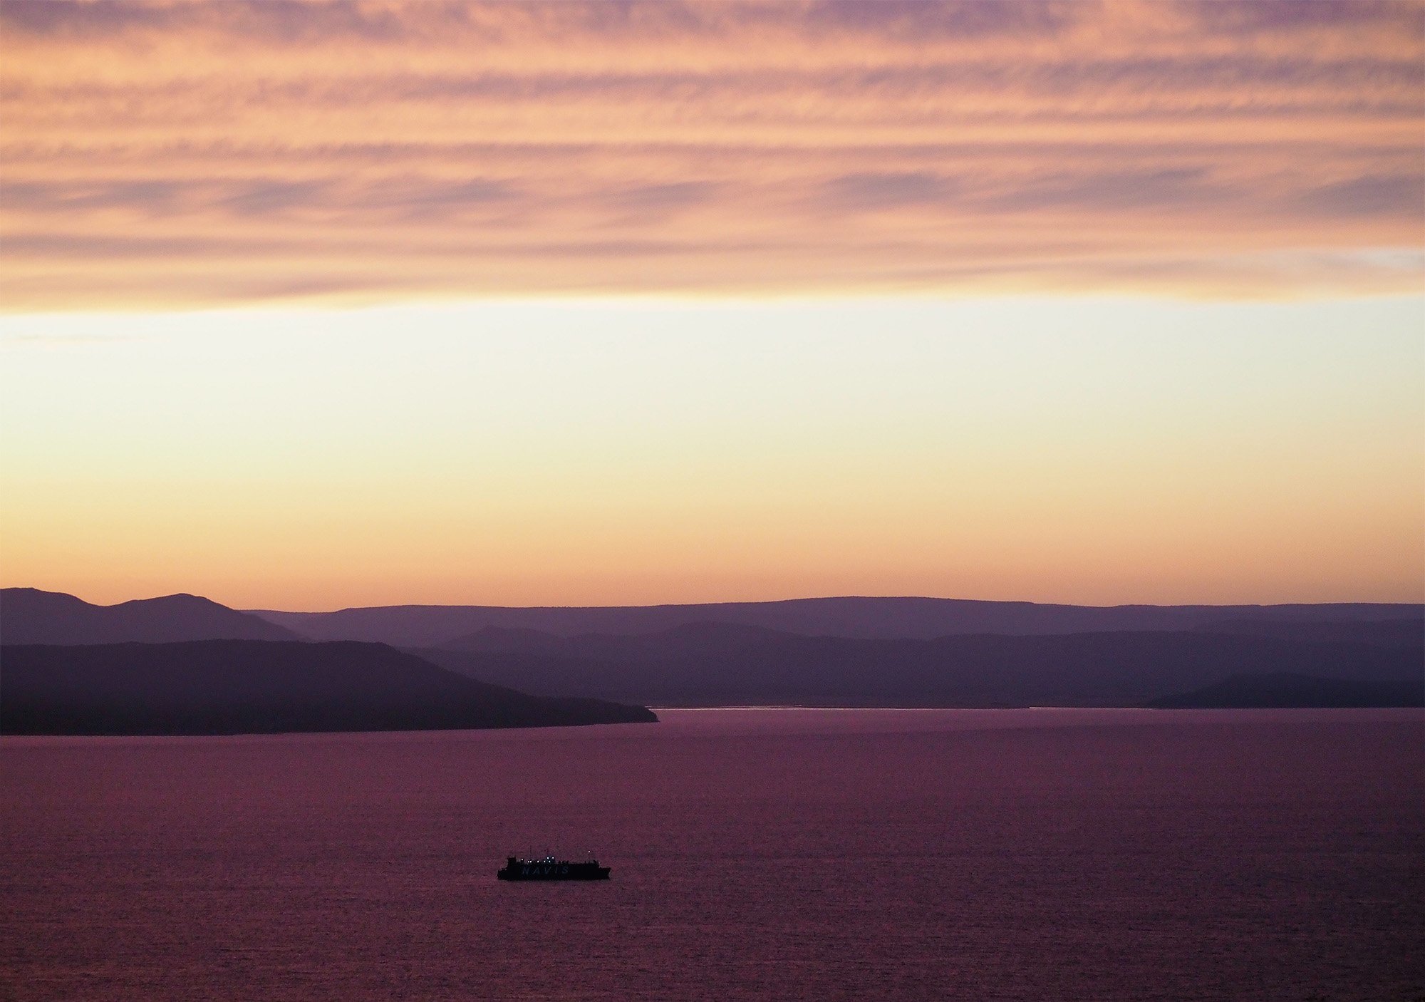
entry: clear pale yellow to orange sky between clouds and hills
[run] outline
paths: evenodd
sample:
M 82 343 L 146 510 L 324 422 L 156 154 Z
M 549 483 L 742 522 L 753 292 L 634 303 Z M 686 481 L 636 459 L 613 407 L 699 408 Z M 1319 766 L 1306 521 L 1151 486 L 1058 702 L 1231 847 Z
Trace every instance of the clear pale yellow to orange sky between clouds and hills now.
M 6 576 L 90 600 L 1418 600 L 1415 299 L 3 322 Z

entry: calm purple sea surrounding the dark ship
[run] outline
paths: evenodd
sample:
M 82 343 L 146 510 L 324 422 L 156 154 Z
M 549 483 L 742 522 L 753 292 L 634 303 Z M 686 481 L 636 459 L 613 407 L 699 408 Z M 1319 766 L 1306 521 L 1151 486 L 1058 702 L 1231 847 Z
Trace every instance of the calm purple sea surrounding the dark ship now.
M 663 718 L 6 738 L 0 996 L 1425 999 L 1419 711 Z

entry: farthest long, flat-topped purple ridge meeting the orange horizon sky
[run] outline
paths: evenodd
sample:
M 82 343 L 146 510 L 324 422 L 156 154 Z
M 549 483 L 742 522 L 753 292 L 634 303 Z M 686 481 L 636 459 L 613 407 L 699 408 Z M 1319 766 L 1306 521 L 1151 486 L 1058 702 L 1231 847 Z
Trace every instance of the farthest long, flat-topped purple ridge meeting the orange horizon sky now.
M 370 640 L 439 647 L 484 627 L 554 636 L 643 634 L 693 623 L 758 626 L 801 636 L 916 639 L 999 633 L 1039 636 L 1211 629 L 1226 621 L 1425 620 L 1422 604 L 1063 606 L 928 597 L 829 597 L 683 606 L 375 606 L 333 613 L 252 610 L 315 640 Z

